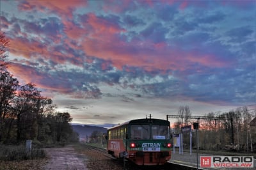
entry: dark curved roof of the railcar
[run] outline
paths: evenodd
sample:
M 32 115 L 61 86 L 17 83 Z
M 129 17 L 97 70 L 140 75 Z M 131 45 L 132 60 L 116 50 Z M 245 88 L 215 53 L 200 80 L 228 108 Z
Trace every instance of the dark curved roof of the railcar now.
M 116 127 L 121 127 L 123 125 L 128 125 L 128 124 L 140 124 L 140 125 L 143 125 L 143 124 L 148 124 L 148 123 L 153 123 L 153 124 L 161 124 L 161 125 L 170 125 L 170 122 L 168 120 L 160 120 L 160 119 L 138 119 L 138 120 L 129 120 L 129 121 L 125 121 L 124 123 L 122 124 L 118 124 L 118 125 L 115 125 L 114 127 L 110 127 L 108 128 L 111 129 L 111 128 L 116 128 Z

